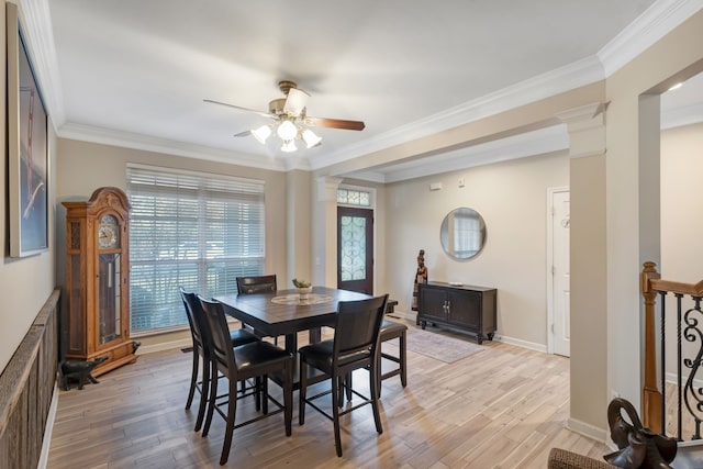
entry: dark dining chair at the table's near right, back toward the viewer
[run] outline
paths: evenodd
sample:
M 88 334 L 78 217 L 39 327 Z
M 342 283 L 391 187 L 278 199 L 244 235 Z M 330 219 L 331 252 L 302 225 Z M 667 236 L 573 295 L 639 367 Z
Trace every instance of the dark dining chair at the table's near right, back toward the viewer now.
M 334 337 L 316 344 L 302 347 L 300 356 L 300 410 L 298 414 L 300 425 L 305 422 L 305 405 L 310 405 L 322 413 L 334 424 L 334 440 L 337 456 L 342 456 L 342 439 L 339 437 L 339 416 L 356 409 L 370 404 L 373 411 L 376 431 L 383 433 L 378 409 L 377 367 L 380 362 L 380 330 L 386 312 L 388 294 L 358 301 L 341 301 L 334 325 Z M 321 371 L 313 376 L 312 369 Z M 370 397 L 352 389 L 352 380 L 346 379 L 357 369 L 369 371 Z M 319 394 L 308 398 L 308 387 L 330 379 L 331 386 Z M 345 384 L 348 382 L 348 386 Z M 359 403 L 341 410 L 343 393 L 347 389 L 361 399 Z M 332 415 L 317 406 L 313 401 L 332 394 Z

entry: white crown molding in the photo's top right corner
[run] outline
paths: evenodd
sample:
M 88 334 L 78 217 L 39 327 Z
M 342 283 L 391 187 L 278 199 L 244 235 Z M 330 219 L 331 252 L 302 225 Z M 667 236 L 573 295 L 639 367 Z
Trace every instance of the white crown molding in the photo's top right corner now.
M 598 53 L 610 77 L 687 19 L 703 9 L 701 0 L 657 0 Z

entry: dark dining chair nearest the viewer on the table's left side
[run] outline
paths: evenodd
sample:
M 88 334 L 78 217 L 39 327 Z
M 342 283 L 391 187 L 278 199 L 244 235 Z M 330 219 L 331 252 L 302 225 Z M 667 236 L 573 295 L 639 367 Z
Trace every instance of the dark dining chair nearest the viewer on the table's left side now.
M 198 297 L 205 313 L 210 333 L 205 337 L 210 338 L 205 347 L 210 349 L 211 358 L 211 383 L 208 406 L 208 416 L 203 426 L 202 436 L 208 436 L 210 424 L 215 411 L 225 420 L 226 428 L 220 465 L 227 462 L 230 448 L 232 446 L 232 434 L 234 428 L 258 422 L 261 418 L 283 412 L 283 424 L 286 436 L 291 435 L 292 405 L 293 405 L 293 356 L 276 347 L 268 342 L 252 342 L 232 347 L 228 339 L 227 321 L 225 319 L 222 303 Z M 220 372 L 227 378 L 228 392 L 225 402 L 217 402 L 217 379 L 215 375 Z M 282 382 L 283 404 L 268 394 L 268 377 L 278 375 Z M 254 378 L 256 380 L 256 391 L 261 392 L 261 414 L 247 421 L 236 423 L 237 401 L 250 393 L 237 393 L 237 382 Z M 274 412 L 268 412 L 268 401 L 278 407 Z M 227 406 L 226 413 L 220 409 Z

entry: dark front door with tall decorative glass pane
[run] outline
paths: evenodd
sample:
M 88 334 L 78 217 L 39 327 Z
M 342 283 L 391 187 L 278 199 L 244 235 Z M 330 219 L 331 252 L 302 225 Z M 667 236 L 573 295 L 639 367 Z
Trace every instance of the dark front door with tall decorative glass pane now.
M 337 288 L 373 294 L 373 211 L 337 206 Z

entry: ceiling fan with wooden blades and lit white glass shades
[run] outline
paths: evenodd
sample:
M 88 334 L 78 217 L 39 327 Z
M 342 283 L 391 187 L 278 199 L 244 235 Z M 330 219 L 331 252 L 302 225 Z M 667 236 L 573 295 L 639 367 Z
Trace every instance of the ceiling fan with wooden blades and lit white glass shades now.
M 276 131 L 276 134 L 283 142 L 281 150 L 295 152 L 295 141 L 302 139 L 308 148 L 322 143 L 322 137 L 317 136 L 308 127 L 342 129 L 347 131 L 361 131 L 366 126 L 361 121 L 345 121 L 342 119 L 311 118 L 306 114 L 306 103 L 310 94 L 293 81 L 281 80 L 278 82 L 279 89 L 286 98 L 274 99 L 268 103 L 268 112 L 256 111 L 242 108 L 241 105 L 228 104 L 226 102 L 205 99 L 203 101 L 213 104 L 226 105 L 242 111 L 255 112 L 275 122 L 260 127 L 235 134 L 235 137 L 253 135 L 259 143 L 265 144 L 266 139 Z

